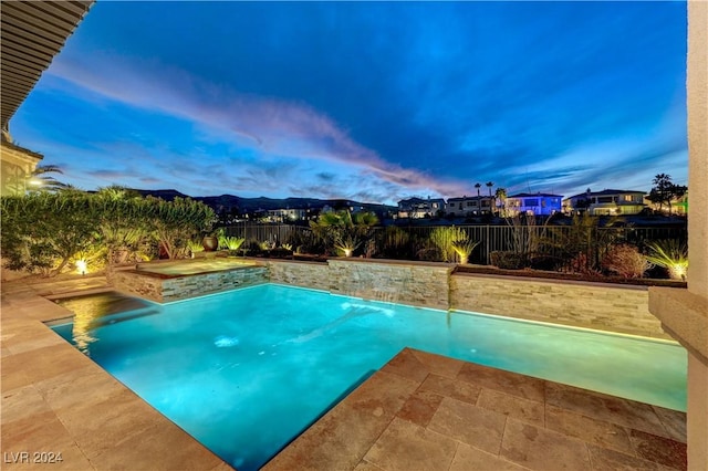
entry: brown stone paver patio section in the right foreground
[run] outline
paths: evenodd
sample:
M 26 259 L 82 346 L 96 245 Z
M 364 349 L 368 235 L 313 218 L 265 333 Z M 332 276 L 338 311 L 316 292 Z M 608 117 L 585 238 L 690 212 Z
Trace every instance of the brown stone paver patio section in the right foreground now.
M 686 415 L 404 349 L 266 467 L 686 469 Z

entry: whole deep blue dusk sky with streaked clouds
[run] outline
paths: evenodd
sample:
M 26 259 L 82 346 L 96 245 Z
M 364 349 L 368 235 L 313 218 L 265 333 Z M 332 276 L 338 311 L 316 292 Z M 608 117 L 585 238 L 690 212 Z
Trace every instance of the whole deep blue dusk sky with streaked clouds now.
M 685 2 L 98 1 L 10 130 L 83 189 L 648 191 L 685 70 Z

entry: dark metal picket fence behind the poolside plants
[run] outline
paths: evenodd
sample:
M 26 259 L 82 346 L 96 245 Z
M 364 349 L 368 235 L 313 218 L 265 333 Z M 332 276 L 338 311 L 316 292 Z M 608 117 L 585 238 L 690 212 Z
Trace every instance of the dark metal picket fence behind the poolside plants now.
M 471 241 L 480 242 L 475 254 L 470 258 L 472 263 L 490 264 L 490 254 L 494 251 L 514 251 L 522 244 L 525 249 L 538 247 L 544 253 L 560 254 L 563 244 L 571 238 L 585 238 L 591 242 L 611 241 L 613 243 L 625 242 L 642 247 L 644 241 L 678 239 L 686 242 L 687 228 L 684 227 L 590 227 L 579 229 L 572 226 L 456 226 L 464 230 Z M 419 248 L 428 240 L 437 226 L 399 227 L 398 229 L 410 236 L 410 243 Z M 310 232 L 309 227 L 291 224 L 256 224 L 240 223 L 229 226 L 227 236 L 242 237 L 247 240 L 259 242 L 285 243 L 296 233 Z M 374 228 L 374 236 L 382 240 L 386 228 Z M 531 250 L 532 251 L 532 250 Z M 415 253 L 415 250 L 412 250 Z

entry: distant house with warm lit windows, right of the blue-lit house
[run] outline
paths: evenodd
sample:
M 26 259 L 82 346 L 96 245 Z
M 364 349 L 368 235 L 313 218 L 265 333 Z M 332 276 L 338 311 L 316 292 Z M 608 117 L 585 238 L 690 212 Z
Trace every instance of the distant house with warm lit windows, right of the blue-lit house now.
M 587 211 L 592 216 L 636 214 L 646 205 L 644 191 L 612 190 L 587 191 L 563 200 L 565 213 L 574 214 Z

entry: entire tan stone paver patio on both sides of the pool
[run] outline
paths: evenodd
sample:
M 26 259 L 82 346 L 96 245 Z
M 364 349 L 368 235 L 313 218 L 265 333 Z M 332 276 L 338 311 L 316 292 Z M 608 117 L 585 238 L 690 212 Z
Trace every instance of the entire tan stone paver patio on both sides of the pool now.
M 3 284 L 2 468 L 231 469 L 42 324 L 66 312 L 41 295 L 106 286 Z M 685 469 L 685 427 L 683 412 L 404 349 L 266 469 Z M 22 451 L 63 461 L 7 462 Z

